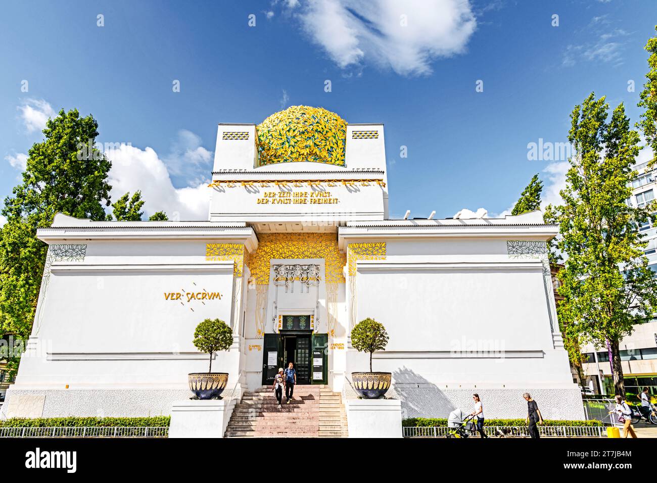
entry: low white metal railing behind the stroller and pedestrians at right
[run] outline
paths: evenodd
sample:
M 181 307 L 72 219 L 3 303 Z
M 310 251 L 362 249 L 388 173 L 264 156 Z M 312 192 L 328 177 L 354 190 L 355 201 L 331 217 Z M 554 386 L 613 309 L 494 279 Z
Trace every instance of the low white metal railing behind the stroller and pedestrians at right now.
M 541 436 L 557 436 L 562 438 L 606 438 L 606 428 L 602 426 L 538 426 Z M 509 430 L 507 436 L 529 436 L 527 426 L 484 426 L 487 436 L 497 436 L 497 430 Z M 447 426 L 403 427 L 404 438 L 444 438 L 447 436 Z M 472 436 L 478 436 L 472 431 Z

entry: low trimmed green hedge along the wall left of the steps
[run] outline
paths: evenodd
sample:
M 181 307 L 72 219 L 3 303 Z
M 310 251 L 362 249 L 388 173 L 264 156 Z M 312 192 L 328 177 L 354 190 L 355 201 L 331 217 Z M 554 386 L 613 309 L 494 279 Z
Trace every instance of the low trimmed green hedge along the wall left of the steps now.
M 0 421 L 0 428 L 72 428 L 97 426 L 126 426 L 126 427 L 162 427 L 169 426 L 171 416 L 156 417 L 43 417 L 37 419 L 12 418 Z

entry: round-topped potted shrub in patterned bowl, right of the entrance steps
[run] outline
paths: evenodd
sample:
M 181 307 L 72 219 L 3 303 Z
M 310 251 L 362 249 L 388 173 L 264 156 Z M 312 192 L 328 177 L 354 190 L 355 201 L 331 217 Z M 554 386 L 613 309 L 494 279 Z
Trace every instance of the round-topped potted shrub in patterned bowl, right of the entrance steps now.
M 358 352 L 369 352 L 369 373 L 351 373 L 353 388 L 365 399 L 378 399 L 390 388 L 392 373 L 372 372 L 372 354 L 388 345 L 388 333 L 382 323 L 374 319 L 361 320 L 351 329 L 351 346 Z

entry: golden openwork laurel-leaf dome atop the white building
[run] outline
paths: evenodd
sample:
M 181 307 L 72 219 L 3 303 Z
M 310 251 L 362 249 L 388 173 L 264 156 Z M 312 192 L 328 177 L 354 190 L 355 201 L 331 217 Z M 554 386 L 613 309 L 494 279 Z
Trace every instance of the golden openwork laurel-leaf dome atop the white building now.
M 347 123 L 321 107 L 290 106 L 258 124 L 260 166 L 311 161 L 344 166 Z

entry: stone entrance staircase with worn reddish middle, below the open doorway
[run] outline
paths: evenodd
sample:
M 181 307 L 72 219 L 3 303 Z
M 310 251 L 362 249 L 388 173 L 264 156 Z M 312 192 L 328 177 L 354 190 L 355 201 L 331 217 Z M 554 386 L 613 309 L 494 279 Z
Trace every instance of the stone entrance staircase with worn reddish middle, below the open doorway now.
M 339 392 L 323 385 L 297 385 L 294 400 L 279 409 L 271 387 L 245 392 L 235 405 L 226 438 L 344 438 L 347 417 Z

